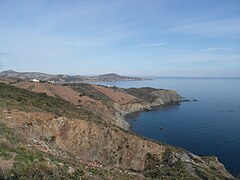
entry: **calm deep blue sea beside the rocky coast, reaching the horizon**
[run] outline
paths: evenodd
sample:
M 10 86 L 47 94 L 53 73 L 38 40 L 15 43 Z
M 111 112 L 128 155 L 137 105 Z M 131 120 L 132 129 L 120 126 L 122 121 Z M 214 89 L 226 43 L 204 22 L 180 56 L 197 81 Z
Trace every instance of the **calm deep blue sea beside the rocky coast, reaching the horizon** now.
M 174 89 L 187 99 L 197 99 L 140 113 L 130 120 L 132 130 L 198 155 L 215 155 L 229 172 L 240 174 L 240 79 L 159 78 L 104 84 Z

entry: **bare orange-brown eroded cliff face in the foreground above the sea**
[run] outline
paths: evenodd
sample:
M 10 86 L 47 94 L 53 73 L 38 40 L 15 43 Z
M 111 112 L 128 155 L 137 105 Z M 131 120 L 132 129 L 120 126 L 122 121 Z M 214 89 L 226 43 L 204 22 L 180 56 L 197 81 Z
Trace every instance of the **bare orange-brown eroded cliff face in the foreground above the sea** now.
M 0 121 L 22 134 L 29 143 L 45 141 L 45 151 L 55 149 L 81 162 L 95 162 L 143 174 L 146 177 L 232 179 L 217 159 L 143 139 L 117 127 L 106 127 L 48 113 L 0 110 Z M 211 163 L 210 163 L 211 161 Z M 209 165 L 211 164 L 211 165 Z

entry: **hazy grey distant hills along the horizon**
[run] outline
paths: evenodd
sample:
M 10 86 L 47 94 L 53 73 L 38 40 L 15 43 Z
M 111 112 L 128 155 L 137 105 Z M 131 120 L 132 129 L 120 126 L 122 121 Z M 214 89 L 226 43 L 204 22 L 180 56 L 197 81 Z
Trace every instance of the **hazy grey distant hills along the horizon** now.
M 113 81 L 141 81 L 147 78 L 121 76 L 115 73 L 103 74 L 99 76 L 82 76 L 82 75 L 64 75 L 64 74 L 47 74 L 41 72 L 16 72 L 13 70 L 3 71 L 0 73 L 2 78 L 13 78 L 21 80 L 39 79 L 42 81 L 55 81 L 56 83 L 80 83 L 80 82 L 113 82 Z

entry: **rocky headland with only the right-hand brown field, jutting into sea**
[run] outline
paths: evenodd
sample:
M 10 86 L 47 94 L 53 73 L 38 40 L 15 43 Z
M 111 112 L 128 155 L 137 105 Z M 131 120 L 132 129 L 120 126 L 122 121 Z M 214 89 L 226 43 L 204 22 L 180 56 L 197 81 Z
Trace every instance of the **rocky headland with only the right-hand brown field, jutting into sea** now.
M 90 84 L 70 84 L 70 87 L 98 101 L 96 104 L 88 104 L 88 107 L 95 109 L 108 123 L 125 130 L 130 127 L 124 119 L 126 114 L 151 110 L 155 106 L 182 101 L 182 97 L 176 91 L 166 89 L 124 89 Z

